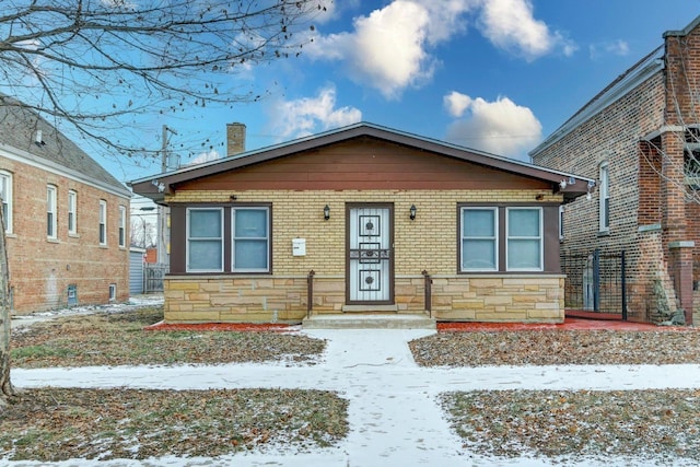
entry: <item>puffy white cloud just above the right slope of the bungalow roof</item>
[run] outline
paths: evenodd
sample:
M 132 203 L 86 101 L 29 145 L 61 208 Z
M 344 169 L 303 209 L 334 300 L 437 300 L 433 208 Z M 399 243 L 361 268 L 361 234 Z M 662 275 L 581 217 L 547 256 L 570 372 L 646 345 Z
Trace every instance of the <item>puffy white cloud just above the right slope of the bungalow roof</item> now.
M 456 144 L 529 161 L 526 151 L 541 140 L 542 126 L 533 112 L 508 97 L 487 102 L 453 92 L 444 100 L 450 112 L 453 103 L 468 102 L 464 110 L 470 115 L 447 129 L 446 139 Z

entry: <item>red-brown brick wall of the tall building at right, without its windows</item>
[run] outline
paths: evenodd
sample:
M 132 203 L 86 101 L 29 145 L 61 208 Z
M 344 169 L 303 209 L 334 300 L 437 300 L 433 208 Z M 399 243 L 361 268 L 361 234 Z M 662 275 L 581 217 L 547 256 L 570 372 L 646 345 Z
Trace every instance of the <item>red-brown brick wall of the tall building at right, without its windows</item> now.
M 591 201 L 579 199 L 568 207 L 562 249 L 625 249 L 632 319 L 650 319 L 654 280 L 675 287 L 676 293 L 668 293 L 672 310 L 676 296 L 687 318 L 696 306 L 691 253 L 700 262 L 700 249 L 669 248 L 669 243 L 700 244 L 700 206 L 688 201 L 681 170 L 682 126 L 700 124 L 698 100 L 691 98 L 699 83 L 700 31 L 668 36 L 665 70 L 535 155 L 537 164 L 592 178 L 598 177 L 600 162 L 608 161 L 609 234 L 598 232 L 596 192 Z M 660 136 L 642 140 L 654 132 Z

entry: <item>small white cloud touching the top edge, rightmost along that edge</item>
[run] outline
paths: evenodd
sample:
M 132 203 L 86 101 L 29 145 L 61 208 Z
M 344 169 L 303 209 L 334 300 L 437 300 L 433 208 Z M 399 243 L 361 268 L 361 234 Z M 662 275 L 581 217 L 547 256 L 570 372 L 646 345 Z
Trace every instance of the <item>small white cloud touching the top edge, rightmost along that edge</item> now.
M 567 56 L 575 45 L 544 21 L 536 20 L 529 0 L 482 0 L 480 28 L 497 47 L 534 60 L 560 47 Z

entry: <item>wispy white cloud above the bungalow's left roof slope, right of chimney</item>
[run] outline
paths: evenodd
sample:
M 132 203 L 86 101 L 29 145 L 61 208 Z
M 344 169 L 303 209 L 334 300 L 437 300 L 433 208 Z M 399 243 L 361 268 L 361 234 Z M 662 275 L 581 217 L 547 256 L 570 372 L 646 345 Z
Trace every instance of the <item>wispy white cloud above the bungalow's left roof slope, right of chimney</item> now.
M 362 113 L 354 107 L 336 108 L 336 89 L 332 85 L 322 89 L 315 97 L 278 102 L 269 110 L 273 131 L 280 140 L 305 137 L 362 120 Z

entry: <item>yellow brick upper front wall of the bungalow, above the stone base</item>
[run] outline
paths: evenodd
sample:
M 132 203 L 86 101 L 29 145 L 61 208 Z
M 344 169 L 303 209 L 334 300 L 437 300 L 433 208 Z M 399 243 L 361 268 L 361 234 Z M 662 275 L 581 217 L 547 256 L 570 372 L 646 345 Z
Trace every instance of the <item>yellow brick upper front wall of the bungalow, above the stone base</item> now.
M 535 201 L 544 195 L 541 201 Z M 230 202 L 230 191 L 178 191 L 170 202 Z M 345 275 L 346 202 L 394 202 L 396 275 L 455 273 L 458 202 L 560 202 L 541 190 L 493 191 L 244 191 L 237 202 L 272 203 L 276 273 Z M 330 219 L 324 221 L 328 205 Z M 416 205 L 415 221 L 409 209 Z M 306 214 L 310 213 L 310 214 Z M 292 256 L 292 240 L 306 240 L 306 256 Z

